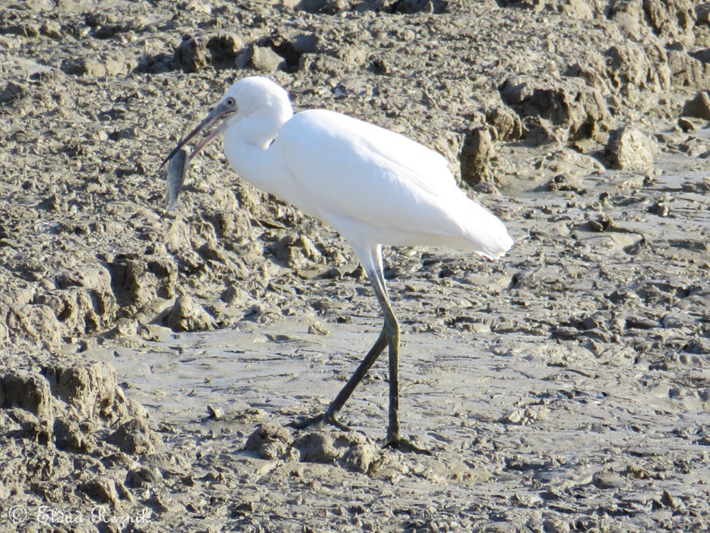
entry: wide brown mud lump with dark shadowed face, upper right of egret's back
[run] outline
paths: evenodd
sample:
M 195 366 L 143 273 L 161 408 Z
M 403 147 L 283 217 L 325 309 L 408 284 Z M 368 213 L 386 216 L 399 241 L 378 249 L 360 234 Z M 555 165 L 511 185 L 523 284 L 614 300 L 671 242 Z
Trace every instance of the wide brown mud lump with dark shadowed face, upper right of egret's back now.
M 595 136 L 610 118 L 599 90 L 586 87 L 577 78 L 540 82 L 515 76 L 503 82 L 499 91 L 503 102 L 520 117 L 539 117 L 562 126 L 569 139 Z

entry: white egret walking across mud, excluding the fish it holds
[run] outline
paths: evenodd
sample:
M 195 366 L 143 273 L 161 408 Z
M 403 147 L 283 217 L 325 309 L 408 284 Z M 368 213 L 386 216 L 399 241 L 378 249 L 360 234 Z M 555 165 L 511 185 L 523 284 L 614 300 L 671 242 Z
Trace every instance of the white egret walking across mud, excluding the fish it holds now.
M 384 315 L 375 344 L 324 414 L 295 425 L 327 423 L 346 429 L 337 420 L 339 411 L 388 347 L 390 406 L 384 443 L 407 445 L 398 420 L 400 328 L 385 285 L 382 245 L 443 246 L 498 259 L 513 239 L 501 220 L 457 186 L 444 157 L 344 114 L 322 109 L 293 114 L 288 93 L 263 77 L 246 77 L 229 87 L 165 161 L 219 119 L 224 120 L 190 159 L 224 134 L 226 158 L 241 178 L 327 222 L 349 242 Z

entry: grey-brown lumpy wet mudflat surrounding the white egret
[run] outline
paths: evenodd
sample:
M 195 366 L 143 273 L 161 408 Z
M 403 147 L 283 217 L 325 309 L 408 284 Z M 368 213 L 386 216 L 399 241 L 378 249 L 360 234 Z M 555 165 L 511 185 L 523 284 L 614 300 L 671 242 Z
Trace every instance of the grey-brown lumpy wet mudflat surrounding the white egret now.
M 710 4 L 0 2 L 0 525 L 655 532 L 710 521 Z M 389 249 L 386 365 L 351 250 L 219 146 L 239 77 L 449 158 L 515 247 Z

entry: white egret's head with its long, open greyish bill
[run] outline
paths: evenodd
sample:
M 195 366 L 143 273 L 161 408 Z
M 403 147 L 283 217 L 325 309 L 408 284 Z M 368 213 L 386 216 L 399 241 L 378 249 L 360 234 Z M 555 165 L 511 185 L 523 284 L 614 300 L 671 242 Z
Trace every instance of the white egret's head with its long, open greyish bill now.
M 252 76 L 239 80 L 229 87 L 222 99 L 219 100 L 207 117 L 204 117 L 204 120 L 202 120 L 200 124 L 197 124 L 195 129 L 182 138 L 182 141 L 178 143 L 178 146 L 175 146 L 175 149 L 168 154 L 168 157 L 165 158 L 160 166 L 162 167 L 167 161 L 170 161 L 170 158 L 175 156 L 182 146 L 185 146 L 192 137 L 197 135 L 200 131 L 209 128 L 209 126 L 212 126 L 219 120 L 222 120 L 222 123 L 204 136 L 200 144 L 195 146 L 195 149 L 192 150 L 190 154 L 190 159 L 195 157 L 207 144 L 216 139 L 219 134 L 223 134 L 232 124 L 236 124 L 236 122 L 248 117 L 259 109 L 283 107 L 284 102 L 288 106 L 289 112 L 291 112 L 288 93 L 265 77 Z

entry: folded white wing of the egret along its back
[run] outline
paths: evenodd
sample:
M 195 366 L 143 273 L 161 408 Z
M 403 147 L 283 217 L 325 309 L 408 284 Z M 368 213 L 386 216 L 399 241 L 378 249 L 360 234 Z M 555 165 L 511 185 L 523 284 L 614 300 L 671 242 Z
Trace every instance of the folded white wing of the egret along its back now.
M 476 217 L 495 219 L 458 188 L 442 156 L 351 117 L 302 112 L 283 126 L 273 148 L 302 195 L 305 205 L 297 207 L 342 234 L 350 220 L 371 233 L 464 238 Z

